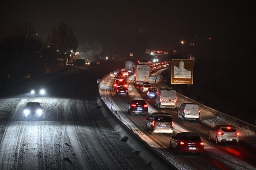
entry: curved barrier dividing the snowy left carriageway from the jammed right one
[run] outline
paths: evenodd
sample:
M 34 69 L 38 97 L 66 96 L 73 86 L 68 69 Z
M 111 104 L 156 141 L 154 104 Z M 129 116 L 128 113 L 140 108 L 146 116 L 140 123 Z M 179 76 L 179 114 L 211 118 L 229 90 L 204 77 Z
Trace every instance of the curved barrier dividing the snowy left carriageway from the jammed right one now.
M 105 76 L 106 77 L 106 76 Z M 105 78 L 103 77 L 103 78 Z M 97 80 L 98 83 L 98 94 L 99 98 L 97 103 L 101 106 L 102 113 L 107 117 L 113 128 L 124 137 L 128 137 L 128 142 L 134 147 L 135 150 L 140 152 L 140 156 L 151 164 L 151 167 L 159 170 L 178 170 L 175 165 L 167 161 L 162 155 L 157 153 L 152 147 L 150 147 L 145 141 L 140 139 L 131 129 L 129 129 L 122 121 L 120 121 L 114 114 L 113 111 L 106 105 L 100 94 L 99 88 L 101 80 Z

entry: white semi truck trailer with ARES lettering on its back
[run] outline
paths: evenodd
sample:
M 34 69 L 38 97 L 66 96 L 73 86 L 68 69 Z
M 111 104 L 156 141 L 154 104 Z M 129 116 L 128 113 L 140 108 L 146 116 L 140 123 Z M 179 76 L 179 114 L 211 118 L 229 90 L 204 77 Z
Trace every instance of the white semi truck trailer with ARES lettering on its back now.
M 149 83 L 150 66 L 145 64 L 136 64 L 134 68 L 134 83 L 135 85 L 142 85 Z

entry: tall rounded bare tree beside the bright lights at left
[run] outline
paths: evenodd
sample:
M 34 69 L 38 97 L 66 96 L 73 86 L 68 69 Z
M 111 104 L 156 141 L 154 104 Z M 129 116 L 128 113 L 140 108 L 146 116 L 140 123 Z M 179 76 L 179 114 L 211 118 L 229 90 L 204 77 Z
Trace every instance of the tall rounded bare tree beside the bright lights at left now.
M 66 23 L 61 23 L 57 28 L 53 27 L 48 36 L 48 42 L 64 57 L 64 63 L 68 59 L 68 64 L 70 65 L 70 56 L 74 54 L 78 47 L 78 41 L 73 29 L 67 26 Z

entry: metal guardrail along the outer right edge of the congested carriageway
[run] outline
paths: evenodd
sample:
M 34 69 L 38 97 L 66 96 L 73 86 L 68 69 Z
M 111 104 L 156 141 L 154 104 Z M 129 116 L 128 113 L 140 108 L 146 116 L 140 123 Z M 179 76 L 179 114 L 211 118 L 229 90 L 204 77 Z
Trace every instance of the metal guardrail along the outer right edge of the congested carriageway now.
M 168 85 L 166 85 L 161 79 L 160 76 L 157 75 L 156 81 L 160 82 L 165 86 L 165 88 L 170 88 Z M 187 96 L 184 96 L 183 94 L 180 94 L 177 92 L 177 99 L 181 102 L 193 102 L 200 106 L 200 110 L 203 111 L 205 114 L 215 117 L 216 119 L 220 120 L 221 122 L 225 122 L 227 124 L 235 126 L 237 129 L 243 131 L 244 133 L 247 133 L 250 136 L 256 137 L 256 126 L 252 125 L 248 122 L 244 122 L 240 119 L 237 119 L 235 117 L 232 117 L 230 115 L 227 115 L 225 113 L 222 113 L 220 111 L 216 111 L 215 109 L 209 108 L 206 105 L 203 105 L 193 99 L 190 99 Z

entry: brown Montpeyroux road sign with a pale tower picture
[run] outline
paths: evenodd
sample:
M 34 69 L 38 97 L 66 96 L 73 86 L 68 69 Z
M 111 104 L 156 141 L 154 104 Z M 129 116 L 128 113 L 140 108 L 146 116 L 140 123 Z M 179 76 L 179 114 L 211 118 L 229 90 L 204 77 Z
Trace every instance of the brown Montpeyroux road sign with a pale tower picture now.
M 192 59 L 172 59 L 172 84 L 193 84 Z

